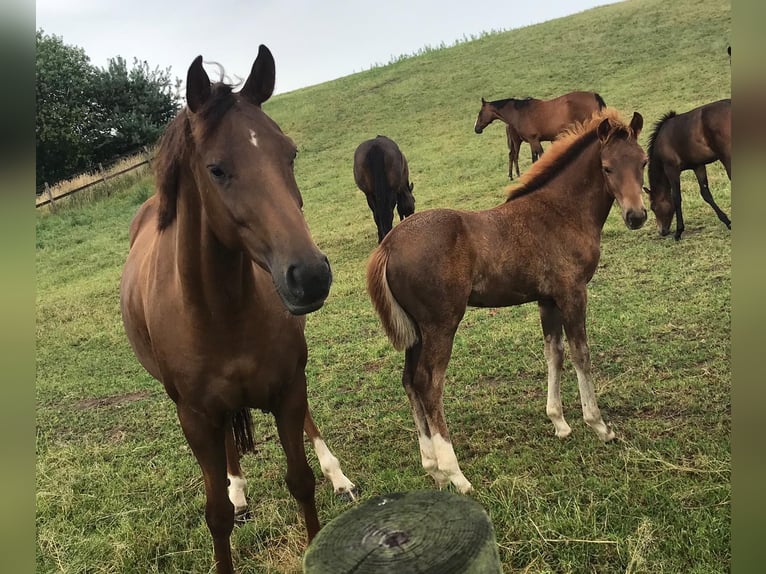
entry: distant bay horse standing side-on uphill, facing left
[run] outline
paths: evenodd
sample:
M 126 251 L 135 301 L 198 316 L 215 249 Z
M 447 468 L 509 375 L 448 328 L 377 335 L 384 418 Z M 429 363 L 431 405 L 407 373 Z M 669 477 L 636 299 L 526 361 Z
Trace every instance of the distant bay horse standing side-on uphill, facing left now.
M 473 129 L 480 134 L 494 120 L 501 120 L 513 128 L 513 131 L 508 130 L 506 133 L 509 150 L 508 176 L 513 179 L 511 164 L 515 154 L 518 175 L 519 146 L 522 141 L 528 142 L 532 148 L 534 163 L 543 155 L 540 142 L 555 140 L 573 123 L 584 122 L 605 106 L 603 98 L 595 92 L 570 92 L 552 100 L 506 98 L 488 102 L 482 98 L 481 109 Z M 511 143 L 516 144 L 514 149 L 511 148 Z

